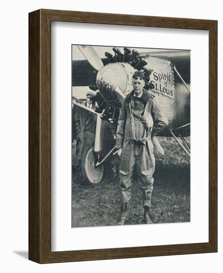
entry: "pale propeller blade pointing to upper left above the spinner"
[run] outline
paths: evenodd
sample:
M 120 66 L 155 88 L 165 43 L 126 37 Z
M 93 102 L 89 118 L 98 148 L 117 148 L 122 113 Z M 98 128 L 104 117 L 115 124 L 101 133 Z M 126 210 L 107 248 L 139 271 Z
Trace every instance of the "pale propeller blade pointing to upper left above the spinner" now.
M 77 46 L 84 57 L 87 59 L 89 64 L 96 70 L 99 71 L 104 67 L 102 60 L 94 50 L 92 46 Z

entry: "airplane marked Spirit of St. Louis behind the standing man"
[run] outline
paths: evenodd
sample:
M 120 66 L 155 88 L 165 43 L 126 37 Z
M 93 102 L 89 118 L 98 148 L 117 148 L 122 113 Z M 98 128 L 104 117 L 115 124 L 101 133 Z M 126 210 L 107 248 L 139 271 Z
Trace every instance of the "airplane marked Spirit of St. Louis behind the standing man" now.
M 74 47 L 74 46 L 73 46 Z M 105 57 L 96 50 L 109 49 Z M 111 54 L 111 49 L 113 54 Z M 159 136 L 172 136 L 190 157 L 190 51 L 157 50 L 76 45 L 75 53 L 85 59 L 72 61 L 72 103 L 88 119 L 91 132 L 85 137 L 81 172 L 89 184 L 102 181 L 104 165 L 115 154 L 115 133 L 122 102 L 132 91 L 132 75 L 136 70 L 144 73 L 145 89 L 154 94 L 167 116 L 169 125 Z M 86 93 L 95 92 L 96 108 L 86 106 Z M 83 91 L 81 93 L 81 91 Z M 85 95 L 85 96 L 83 96 Z M 85 97 L 85 98 L 84 98 Z M 90 120 L 89 120 L 90 115 Z M 93 117 L 93 118 L 92 118 Z M 75 131 L 75 118 L 72 117 Z M 84 132 L 82 132 L 82 137 Z M 179 140 L 180 138 L 180 140 Z M 156 137 L 154 147 L 163 154 Z

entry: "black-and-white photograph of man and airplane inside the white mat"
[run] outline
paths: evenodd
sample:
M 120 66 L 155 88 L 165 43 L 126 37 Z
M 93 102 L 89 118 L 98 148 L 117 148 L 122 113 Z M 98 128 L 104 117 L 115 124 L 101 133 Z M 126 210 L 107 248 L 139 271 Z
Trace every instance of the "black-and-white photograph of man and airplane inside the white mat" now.
M 72 228 L 190 222 L 190 50 L 72 45 L 71 64 Z

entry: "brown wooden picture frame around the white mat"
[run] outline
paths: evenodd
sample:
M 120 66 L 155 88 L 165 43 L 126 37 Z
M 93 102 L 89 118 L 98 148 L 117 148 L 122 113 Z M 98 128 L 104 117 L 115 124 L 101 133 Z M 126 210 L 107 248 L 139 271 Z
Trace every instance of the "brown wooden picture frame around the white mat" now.
M 209 31 L 209 242 L 51 251 L 51 22 Z M 217 21 L 40 9 L 29 13 L 29 259 L 74 262 L 217 252 Z

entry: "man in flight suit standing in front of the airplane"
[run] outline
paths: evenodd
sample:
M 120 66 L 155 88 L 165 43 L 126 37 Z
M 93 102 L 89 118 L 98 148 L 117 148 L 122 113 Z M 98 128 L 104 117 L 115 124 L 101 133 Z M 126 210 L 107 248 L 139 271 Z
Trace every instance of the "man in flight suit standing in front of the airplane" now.
M 144 89 L 145 79 L 141 71 L 132 77 L 132 92 L 126 96 L 118 119 L 116 148 L 120 157 L 121 218 L 124 225 L 129 217 L 134 171 L 137 171 L 142 189 L 144 222 L 150 217 L 155 157 L 151 134 L 158 135 L 168 125 L 168 120 L 150 91 Z

